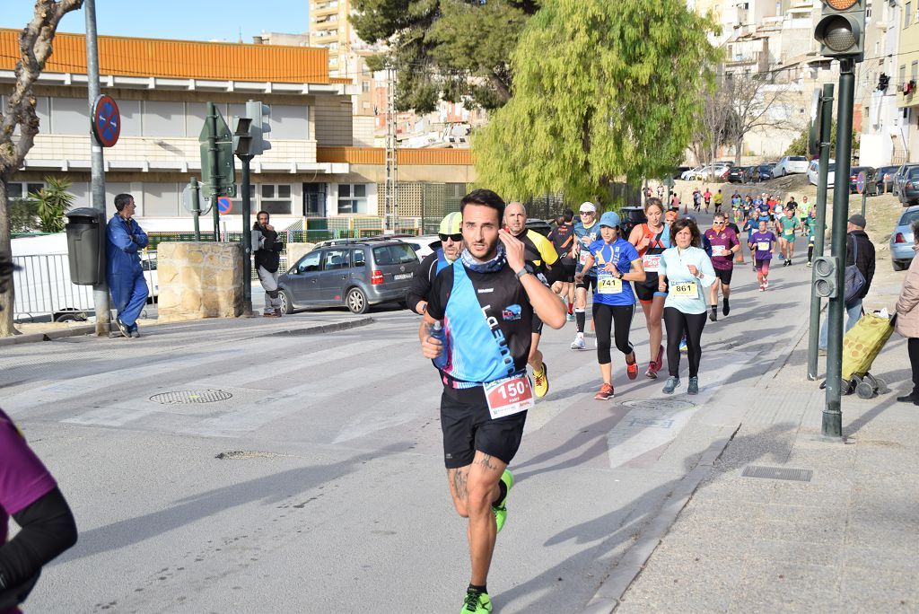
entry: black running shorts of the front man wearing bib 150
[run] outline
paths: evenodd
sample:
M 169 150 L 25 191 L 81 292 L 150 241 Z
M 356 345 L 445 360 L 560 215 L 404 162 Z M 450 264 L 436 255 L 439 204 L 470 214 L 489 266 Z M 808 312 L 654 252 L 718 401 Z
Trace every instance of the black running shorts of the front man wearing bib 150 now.
M 527 412 L 493 420 L 481 386 L 465 390 L 444 388 L 440 395 L 444 464 L 447 469 L 471 465 L 477 450 L 510 464 L 520 448 L 526 422 Z

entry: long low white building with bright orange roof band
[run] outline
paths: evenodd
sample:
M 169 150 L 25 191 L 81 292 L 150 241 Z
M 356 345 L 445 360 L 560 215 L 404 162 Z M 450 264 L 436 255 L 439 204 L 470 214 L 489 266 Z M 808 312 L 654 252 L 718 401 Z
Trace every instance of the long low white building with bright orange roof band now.
M 0 96 L 15 80 L 18 30 L 0 29 Z M 199 134 L 207 103 L 233 127 L 245 101 L 270 109 L 271 149 L 252 163 L 254 210 L 280 228 L 304 218 L 378 214 L 385 179 L 383 151 L 356 147 L 352 129 L 357 86 L 328 71 L 328 50 L 302 46 L 99 37 L 101 88 L 119 103 L 119 142 L 105 150 L 109 212 L 130 192 L 149 230 L 189 230 L 182 189 L 200 176 Z M 39 188 L 45 176 L 72 182 L 75 206 L 90 199 L 90 119 L 85 38 L 59 33 L 35 86 L 40 133 L 10 196 Z M 404 181 L 472 180 L 471 161 L 427 152 L 401 154 Z M 238 161 L 237 161 L 238 168 Z M 381 198 L 379 199 L 381 201 Z M 240 230 L 241 199 L 222 216 Z M 381 205 L 380 205 L 381 208 Z M 208 227 L 210 222 L 203 222 Z

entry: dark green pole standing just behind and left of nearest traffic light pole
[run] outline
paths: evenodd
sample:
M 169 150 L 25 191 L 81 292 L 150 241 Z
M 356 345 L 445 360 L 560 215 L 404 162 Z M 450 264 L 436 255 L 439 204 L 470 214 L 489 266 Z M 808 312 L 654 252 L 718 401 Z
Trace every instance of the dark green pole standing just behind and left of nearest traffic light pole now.
M 821 125 L 817 127 L 820 143 L 820 178 L 817 181 L 817 220 L 814 229 L 813 254 L 823 256 L 823 243 L 826 236 L 826 184 L 830 171 L 830 135 L 833 133 L 833 84 L 823 85 L 823 96 L 820 98 Z M 816 289 L 817 269 L 811 269 L 811 330 L 807 346 L 807 379 L 817 379 L 817 347 L 820 344 L 820 311 L 821 301 Z

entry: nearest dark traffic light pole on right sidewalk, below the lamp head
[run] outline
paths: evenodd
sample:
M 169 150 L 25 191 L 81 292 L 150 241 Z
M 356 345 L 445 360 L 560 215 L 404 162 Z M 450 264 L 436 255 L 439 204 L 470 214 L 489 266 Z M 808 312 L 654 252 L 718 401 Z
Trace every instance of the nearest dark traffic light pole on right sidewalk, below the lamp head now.
M 843 385 L 843 314 L 845 313 L 845 237 L 849 212 L 848 177 L 852 158 L 852 109 L 855 102 L 856 76 L 853 60 L 840 58 L 839 107 L 836 121 L 836 169 L 840 184 L 833 190 L 833 236 L 831 254 L 836 259 L 836 297 L 830 299 L 827 324 L 829 338 L 826 352 L 826 404 L 823 407 L 824 437 L 842 438 Z M 835 182 L 834 182 L 835 184 Z

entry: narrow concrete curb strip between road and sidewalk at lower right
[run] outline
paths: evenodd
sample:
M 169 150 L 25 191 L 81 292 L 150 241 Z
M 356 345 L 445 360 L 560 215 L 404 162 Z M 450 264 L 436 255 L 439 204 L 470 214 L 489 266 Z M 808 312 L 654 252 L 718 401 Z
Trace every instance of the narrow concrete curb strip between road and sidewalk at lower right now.
M 716 439 L 709 449 L 702 454 L 702 457 L 693 467 L 691 472 L 686 473 L 683 478 L 676 483 L 674 490 L 664 501 L 664 506 L 660 512 L 651 521 L 647 529 L 641 531 L 641 537 L 625 553 L 622 560 L 615 566 L 612 573 L 606 581 L 596 590 L 594 597 L 587 603 L 587 607 L 582 610 L 583 614 L 609 614 L 619 605 L 619 601 L 629 586 L 635 581 L 635 578 L 644 570 L 645 563 L 651 558 L 653 552 L 660 545 L 661 540 L 670 531 L 670 528 L 680 515 L 689 499 L 696 493 L 699 483 L 711 471 L 715 461 L 718 460 L 724 449 L 731 443 L 741 425 L 733 430 L 730 437 Z

